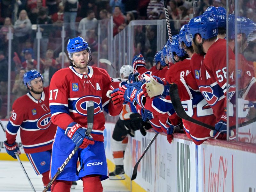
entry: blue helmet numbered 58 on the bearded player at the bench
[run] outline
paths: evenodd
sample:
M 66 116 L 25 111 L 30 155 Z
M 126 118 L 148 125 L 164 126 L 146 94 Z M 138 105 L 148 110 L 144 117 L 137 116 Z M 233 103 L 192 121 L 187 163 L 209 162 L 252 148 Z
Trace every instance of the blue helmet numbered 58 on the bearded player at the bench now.
M 200 15 L 188 22 L 187 41 L 192 41 L 199 33 L 203 39 L 210 39 L 218 35 L 218 27 L 215 19 L 210 14 Z

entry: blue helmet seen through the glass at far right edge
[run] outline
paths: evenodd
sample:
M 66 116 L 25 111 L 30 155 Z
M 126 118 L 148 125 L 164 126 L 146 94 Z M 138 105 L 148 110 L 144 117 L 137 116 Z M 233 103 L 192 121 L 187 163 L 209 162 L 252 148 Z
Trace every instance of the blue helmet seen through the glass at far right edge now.
M 256 24 L 253 21 L 246 17 L 238 16 L 237 19 L 237 34 L 244 33 L 245 38 L 248 41 L 253 41 L 256 39 Z M 228 16 L 228 38 L 235 39 L 236 32 L 235 32 L 235 15 L 230 14 Z

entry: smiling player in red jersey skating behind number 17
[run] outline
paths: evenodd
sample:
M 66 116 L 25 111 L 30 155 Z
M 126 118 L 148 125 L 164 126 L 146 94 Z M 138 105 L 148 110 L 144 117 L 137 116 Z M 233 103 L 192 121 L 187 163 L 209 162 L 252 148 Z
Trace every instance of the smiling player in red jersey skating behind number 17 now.
M 45 187 L 50 181 L 52 141 L 56 132 L 56 125 L 51 121 L 49 87 L 43 87 L 43 76 L 36 70 L 25 73 L 23 82 L 30 91 L 12 105 L 4 146 L 7 153 L 16 159 L 15 153 L 20 154 L 20 149 L 15 140 L 20 128 L 24 151 L 36 174 L 43 175 Z

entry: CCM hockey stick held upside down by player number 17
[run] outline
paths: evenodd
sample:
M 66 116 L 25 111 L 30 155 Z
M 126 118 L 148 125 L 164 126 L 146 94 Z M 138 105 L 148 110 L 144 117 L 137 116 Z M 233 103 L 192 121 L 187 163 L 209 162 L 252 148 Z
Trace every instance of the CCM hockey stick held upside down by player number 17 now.
M 94 116 L 94 106 L 93 101 L 89 101 L 87 103 L 87 131 L 86 135 L 89 135 L 92 132 L 93 127 L 93 116 Z M 64 163 L 58 168 L 57 173 L 52 177 L 52 180 L 48 183 L 48 185 L 44 188 L 43 192 L 46 192 L 51 186 L 52 183 L 57 179 L 57 177 L 60 175 L 60 173 L 63 171 L 63 169 L 66 167 L 70 159 L 74 156 L 76 151 L 78 150 L 79 146 L 76 146 L 73 151 L 68 155 L 67 159 L 64 161 Z

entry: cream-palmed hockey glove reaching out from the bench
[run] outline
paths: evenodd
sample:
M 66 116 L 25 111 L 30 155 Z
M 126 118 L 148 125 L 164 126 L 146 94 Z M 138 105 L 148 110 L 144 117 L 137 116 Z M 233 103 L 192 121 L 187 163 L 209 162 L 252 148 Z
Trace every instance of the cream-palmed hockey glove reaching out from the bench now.
M 150 98 L 158 95 L 162 95 L 164 92 L 164 85 L 157 82 L 154 78 L 150 77 L 150 82 L 145 83 L 148 96 Z

